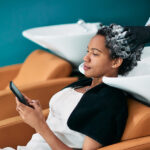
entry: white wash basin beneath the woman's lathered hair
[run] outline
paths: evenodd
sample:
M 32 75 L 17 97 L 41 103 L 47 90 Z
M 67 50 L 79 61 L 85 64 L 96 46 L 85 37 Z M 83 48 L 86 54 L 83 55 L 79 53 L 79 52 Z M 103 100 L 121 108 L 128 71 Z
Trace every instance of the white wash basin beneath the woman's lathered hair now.
M 81 64 L 79 70 L 84 74 Z M 103 77 L 103 82 L 129 92 L 133 97 L 150 105 L 150 47 L 143 49 L 141 61 L 127 76 Z

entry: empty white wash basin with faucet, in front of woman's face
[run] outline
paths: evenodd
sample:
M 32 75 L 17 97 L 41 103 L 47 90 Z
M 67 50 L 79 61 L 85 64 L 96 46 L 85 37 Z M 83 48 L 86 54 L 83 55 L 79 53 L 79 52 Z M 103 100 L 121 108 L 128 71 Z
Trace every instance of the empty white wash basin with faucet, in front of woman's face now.
M 77 67 L 86 54 L 90 39 L 96 34 L 99 23 L 64 24 L 23 31 L 23 36 L 70 61 Z

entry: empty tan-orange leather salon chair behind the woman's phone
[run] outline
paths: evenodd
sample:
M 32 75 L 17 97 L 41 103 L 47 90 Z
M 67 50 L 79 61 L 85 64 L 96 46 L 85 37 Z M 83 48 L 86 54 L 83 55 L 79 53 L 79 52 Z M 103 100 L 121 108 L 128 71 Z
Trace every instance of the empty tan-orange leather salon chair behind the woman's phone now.
M 10 80 L 30 98 L 39 99 L 45 109 L 53 94 L 77 80 L 69 77 L 71 72 L 69 62 L 43 50 L 33 51 L 23 64 L 0 68 L 0 120 L 18 115 Z

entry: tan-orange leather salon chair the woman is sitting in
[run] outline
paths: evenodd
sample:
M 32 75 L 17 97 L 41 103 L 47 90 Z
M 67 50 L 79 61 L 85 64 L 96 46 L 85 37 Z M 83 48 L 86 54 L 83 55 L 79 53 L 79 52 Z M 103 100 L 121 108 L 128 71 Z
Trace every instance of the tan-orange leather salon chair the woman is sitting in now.
M 128 120 L 121 142 L 98 150 L 150 150 L 150 107 L 128 99 Z M 49 110 L 43 111 L 45 117 Z M 0 121 L 0 147 L 26 145 L 35 131 L 19 116 Z M 23 136 L 22 136 L 23 135 Z

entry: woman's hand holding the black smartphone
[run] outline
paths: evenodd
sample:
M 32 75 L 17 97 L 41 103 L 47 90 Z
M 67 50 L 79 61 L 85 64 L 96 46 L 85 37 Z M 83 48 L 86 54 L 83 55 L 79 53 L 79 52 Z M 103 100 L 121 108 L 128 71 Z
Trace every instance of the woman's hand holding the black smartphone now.
M 38 100 L 31 100 L 25 95 L 24 97 L 28 101 L 28 103 L 33 106 L 33 108 L 22 104 L 16 97 L 16 110 L 19 112 L 21 118 L 25 123 L 39 132 L 42 125 L 46 124 L 45 118 L 42 114 L 40 102 Z

